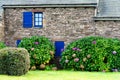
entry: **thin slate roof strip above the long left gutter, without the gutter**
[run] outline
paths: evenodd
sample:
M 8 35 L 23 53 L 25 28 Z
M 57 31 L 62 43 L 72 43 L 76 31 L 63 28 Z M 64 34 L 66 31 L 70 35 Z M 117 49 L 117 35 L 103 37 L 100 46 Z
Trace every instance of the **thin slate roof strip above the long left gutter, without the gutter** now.
M 96 3 L 97 0 L 1 0 L 1 4 L 81 4 Z

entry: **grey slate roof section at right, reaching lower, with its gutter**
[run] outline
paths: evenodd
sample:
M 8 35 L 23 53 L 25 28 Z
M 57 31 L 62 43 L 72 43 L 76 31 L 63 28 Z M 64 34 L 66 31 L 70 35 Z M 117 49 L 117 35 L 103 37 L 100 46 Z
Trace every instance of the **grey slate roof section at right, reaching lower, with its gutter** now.
M 120 20 L 120 0 L 99 0 L 97 20 Z

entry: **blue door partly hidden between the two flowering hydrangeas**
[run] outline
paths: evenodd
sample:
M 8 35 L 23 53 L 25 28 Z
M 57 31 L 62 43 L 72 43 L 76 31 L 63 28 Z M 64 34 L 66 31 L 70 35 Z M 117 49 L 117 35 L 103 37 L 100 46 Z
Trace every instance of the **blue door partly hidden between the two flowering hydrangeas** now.
M 60 57 L 64 50 L 64 41 L 55 41 L 55 57 Z

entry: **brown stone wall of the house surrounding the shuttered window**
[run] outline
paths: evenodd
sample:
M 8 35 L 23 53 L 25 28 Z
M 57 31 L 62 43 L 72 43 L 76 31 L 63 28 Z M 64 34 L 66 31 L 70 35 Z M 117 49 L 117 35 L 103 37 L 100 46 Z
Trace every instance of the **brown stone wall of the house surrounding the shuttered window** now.
M 43 28 L 23 28 L 24 11 L 43 11 Z M 120 38 L 120 22 L 95 22 L 94 12 L 94 8 L 5 9 L 5 41 L 15 46 L 17 39 L 33 35 L 44 35 L 53 41 L 64 40 L 66 44 L 93 35 Z

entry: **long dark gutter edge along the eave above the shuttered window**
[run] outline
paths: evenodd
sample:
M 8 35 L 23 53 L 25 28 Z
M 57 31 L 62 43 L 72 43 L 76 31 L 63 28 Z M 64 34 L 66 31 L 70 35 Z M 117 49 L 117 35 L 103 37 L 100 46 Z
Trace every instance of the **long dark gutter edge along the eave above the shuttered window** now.
M 81 4 L 16 4 L 2 5 L 3 8 L 35 8 L 35 7 L 96 7 L 97 3 L 81 3 Z

